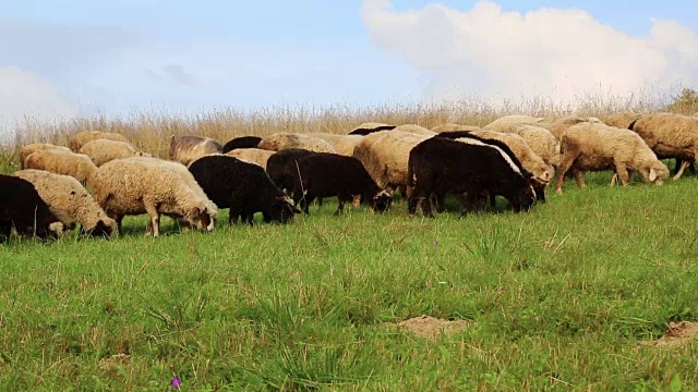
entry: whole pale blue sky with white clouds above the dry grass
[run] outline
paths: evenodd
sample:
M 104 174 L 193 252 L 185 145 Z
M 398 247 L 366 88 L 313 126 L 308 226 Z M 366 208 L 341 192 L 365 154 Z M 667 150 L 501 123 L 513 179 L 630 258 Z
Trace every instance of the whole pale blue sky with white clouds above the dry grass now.
M 697 30 L 685 0 L 0 0 L 0 132 L 27 115 L 695 86 Z

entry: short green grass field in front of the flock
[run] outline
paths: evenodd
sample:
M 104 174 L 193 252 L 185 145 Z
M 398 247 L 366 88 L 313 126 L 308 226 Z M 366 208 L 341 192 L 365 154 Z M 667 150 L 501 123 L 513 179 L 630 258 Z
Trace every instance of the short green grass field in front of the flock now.
M 566 183 L 528 213 L 336 204 L 290 225 L 0 247 L 0 389 L 698 389 L 698 179 Z M 436 242 L 436 243 L 435 243 Z M 384 327 L 430 315 L 436 342 Z M 115 359 L 116 355 L 129 357 Z

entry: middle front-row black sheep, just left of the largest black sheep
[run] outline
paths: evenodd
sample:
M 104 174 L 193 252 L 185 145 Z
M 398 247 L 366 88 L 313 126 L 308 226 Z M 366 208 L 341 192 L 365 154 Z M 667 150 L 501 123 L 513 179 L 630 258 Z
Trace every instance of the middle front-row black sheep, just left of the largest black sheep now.
M 310 213 L 309 206 L 316 197 L 337 196 L 336 215 L 341 213 L 353 195 L 361 195 L 361 200 L 369 203 L 374 212 L 384 212 L 393 201 L 393 196 L 381 189 L 353 157 L 315 152 L 298 162 L 298 171 L 300 179 L 297 177 L 293 187 L 293 199 L 297 204 L 302 200 L 305 213 Z

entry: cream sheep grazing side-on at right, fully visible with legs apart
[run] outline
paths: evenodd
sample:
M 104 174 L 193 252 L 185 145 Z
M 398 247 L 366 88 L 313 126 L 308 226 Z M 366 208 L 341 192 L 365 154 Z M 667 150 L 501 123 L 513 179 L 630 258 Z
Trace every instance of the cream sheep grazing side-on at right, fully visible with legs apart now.
M 562 137 L 562 159 L 555 192 L 562 193 L 565 174 L 570 171 L 579 187 L 585 186 L 585 171 L 613 170 L 623 185 L 638 171 L 643 182 L 661 185 L 669 169 L 633 131 L 602 123 L 581 122 L 570 126 Z

